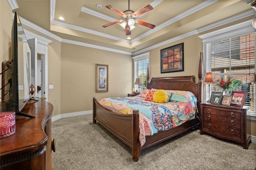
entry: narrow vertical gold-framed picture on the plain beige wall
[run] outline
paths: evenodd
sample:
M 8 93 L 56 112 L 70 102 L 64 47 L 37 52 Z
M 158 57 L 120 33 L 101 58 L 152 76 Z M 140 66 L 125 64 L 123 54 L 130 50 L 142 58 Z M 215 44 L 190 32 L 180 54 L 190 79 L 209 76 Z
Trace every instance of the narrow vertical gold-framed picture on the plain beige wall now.
M 96 64 L 96 92 L 108 92 L 108 65 Z

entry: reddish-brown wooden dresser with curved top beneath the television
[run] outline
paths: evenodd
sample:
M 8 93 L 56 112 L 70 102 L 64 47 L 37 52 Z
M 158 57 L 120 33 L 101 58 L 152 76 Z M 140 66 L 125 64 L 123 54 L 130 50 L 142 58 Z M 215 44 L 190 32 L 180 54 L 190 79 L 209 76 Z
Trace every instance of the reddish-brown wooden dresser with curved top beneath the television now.
M 16 115 L 16 132 L 0 139 L 1 170 L 52 169 L 52 111 L 52 104 L 44 98 L 28 101 L 22 112 L 36 118 Z

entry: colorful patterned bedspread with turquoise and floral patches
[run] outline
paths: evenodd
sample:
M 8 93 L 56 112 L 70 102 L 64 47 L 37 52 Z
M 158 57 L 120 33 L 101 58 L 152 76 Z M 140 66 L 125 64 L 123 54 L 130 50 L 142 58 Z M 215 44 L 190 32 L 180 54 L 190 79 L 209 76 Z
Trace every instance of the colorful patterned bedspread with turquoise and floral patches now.
M 175 128 L 195 115 L 198 112 L 196 102 L 193 95 L 188 97 L 187 102 L 170 100 L 167 103 L 155 103 L 139 96 L 112 97 L 99 101 L 105 109 L 117 114 L 132 114 L 132 109 L 139 109 L 141 146 L 146 142 L 145 136 Z

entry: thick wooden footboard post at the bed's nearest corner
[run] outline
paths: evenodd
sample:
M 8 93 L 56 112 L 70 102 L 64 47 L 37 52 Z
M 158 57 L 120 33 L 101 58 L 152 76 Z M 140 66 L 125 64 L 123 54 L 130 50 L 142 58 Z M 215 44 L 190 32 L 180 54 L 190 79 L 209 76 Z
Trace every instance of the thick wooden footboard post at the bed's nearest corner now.
M 139 142 L 139 109 L 132 110 L 132 160 L 137 162 L 140 157 L 140 142 Z

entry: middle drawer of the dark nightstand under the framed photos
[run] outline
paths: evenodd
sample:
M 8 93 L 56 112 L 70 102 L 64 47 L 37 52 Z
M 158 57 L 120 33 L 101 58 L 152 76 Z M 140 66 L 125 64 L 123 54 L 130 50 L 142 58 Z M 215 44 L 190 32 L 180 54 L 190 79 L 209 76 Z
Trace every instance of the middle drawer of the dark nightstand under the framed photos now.
M 214 123 L 217 122 L 220 126 L 230 126 L 235 128 L 241 127 L 241 120 L 240 119 L 234 119 L 232 117 L 223 117 L 218 116 L 210 113 L 204 113 L 204 123 Z

